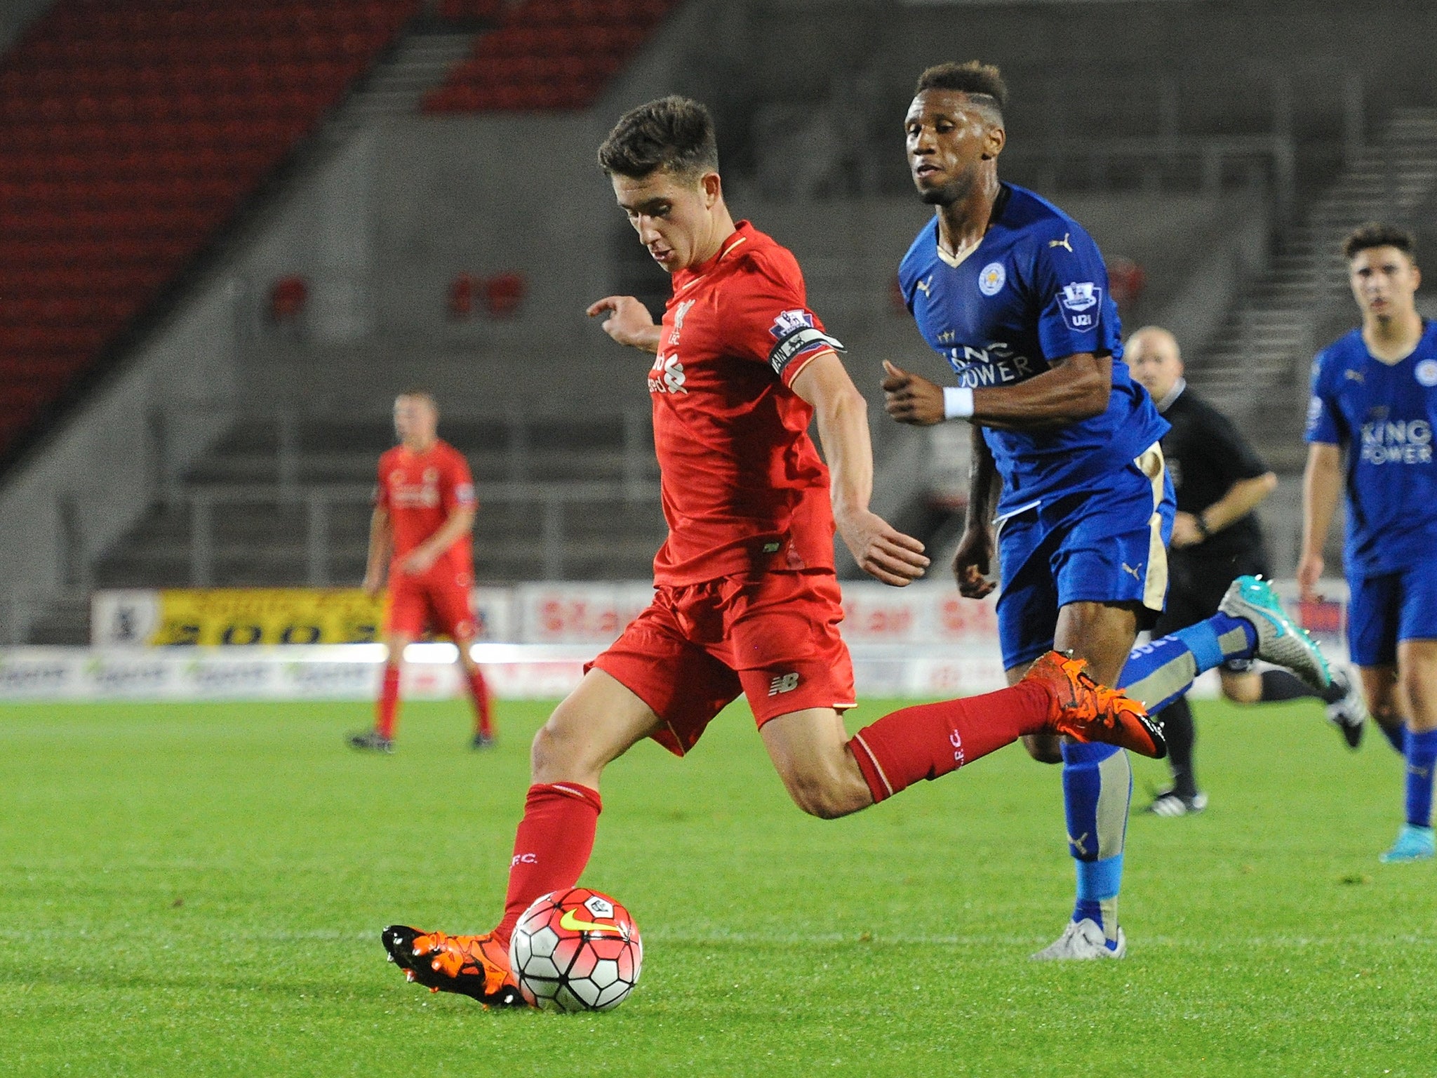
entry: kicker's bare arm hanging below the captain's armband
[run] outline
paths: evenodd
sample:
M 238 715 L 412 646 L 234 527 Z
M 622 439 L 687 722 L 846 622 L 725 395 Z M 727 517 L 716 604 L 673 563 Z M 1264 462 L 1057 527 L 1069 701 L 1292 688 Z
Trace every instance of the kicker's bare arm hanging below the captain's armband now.
M 832 482 L 833 523 L 858 566 L 874 579 L 902 588 L 923 576 L 923 543 L 869 512 L 874 448 L 868 402 L 833 352 L 810 359 L 793 379 L 793 392 L 813 405 L 818 440 Z

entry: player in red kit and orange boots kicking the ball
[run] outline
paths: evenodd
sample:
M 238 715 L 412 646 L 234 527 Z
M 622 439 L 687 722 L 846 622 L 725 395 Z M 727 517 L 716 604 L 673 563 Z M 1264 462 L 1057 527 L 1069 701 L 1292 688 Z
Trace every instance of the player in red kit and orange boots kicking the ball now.
M 793 801 L 825 819 L 1029 732 L 1163 755 L 1138 704 L 1058 654 L 1012 688 L 907 707 L 848 737 L 854 673 L 838 635 L 835 525 L 885 584 L 917 579 L 928 559 L 869 512 L 868 411 L 842 345 L 809 310 L 793 256 L 734 224 L 717 158 L 708 111 L 684 98 L 625 114 L 599 148 L 619 207 L 674 280 L 662 325 L 632 296 L 589 308 L 611 338 L 655 356 L 648 391 L 668 539 L 654 559 L 652 605 L 535 737 L 499 926 L 483 936 L 384 930 L 389 957 L 434 990 L 516 1002 L 510 933 L 535 898 L 583 871 L 605 765 L 644 737 L 683 756 L 740 693 Z

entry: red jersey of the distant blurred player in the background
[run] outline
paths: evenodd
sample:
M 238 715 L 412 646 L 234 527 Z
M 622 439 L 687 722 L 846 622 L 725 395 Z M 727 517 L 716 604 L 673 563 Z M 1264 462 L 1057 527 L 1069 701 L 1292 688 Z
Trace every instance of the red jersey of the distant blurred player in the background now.
M 389 513 L 394 535 L 391 581 L 398 572 L 394 563 L 440 530 L 456 506 L 477 505 L 468 461 L 447 441 L 435 441 L 424 453 L 395 446 L 381 456 L 374 500 Z M 463 535 L 440 555 L 430 573 L 448 576 L 466 572 L 473 578 L 474 549 L 470 536 Z

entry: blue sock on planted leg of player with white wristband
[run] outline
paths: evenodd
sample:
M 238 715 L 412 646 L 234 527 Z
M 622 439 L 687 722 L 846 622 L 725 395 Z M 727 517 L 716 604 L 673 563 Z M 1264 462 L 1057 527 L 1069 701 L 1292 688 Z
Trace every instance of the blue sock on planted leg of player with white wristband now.
M 1068 852 L 1078 871 L 1073 920 L 1096 921 L 1108 947 L 1117 949 L 1132 766 L 1128 755 L 1112 745 L 1063 743 L 1062 752 Z

